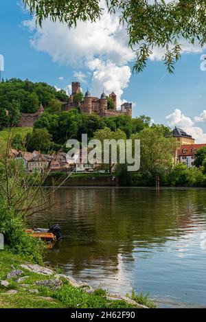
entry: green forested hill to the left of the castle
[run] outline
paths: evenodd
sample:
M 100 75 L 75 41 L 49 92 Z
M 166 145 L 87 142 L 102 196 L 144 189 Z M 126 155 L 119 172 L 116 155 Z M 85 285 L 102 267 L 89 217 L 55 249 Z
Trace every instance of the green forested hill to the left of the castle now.
M 60 102 L 67 99 L 65 91 L 57 91 L 45 82 L 34 83 L 16 78 L 3 81 L 0 83 L 0 129 L 18 122 L 20 113 L 35 113 L 40 104 L 44 108 L 55 106 L 58 110 Z M 9 112 L 9 116 L 5 110 Z

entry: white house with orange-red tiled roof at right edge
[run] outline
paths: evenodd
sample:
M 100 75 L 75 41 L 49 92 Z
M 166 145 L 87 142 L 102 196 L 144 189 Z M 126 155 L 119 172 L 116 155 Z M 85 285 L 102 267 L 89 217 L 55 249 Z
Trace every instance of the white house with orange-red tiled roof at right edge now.
M 195 153 L 197 150 L 203 148 L 206 144 L 183 144 L 179 151 L 179 161 L 185 163 L 188 168 L 194 166 Z

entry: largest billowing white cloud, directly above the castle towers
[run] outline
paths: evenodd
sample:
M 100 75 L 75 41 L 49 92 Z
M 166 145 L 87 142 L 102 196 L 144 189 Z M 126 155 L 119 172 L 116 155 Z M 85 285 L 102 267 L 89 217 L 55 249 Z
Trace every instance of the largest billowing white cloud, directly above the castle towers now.
M 128 62 L 135 54 L 128 47 L 128 35 L 125 27 L 119 24 L 118 13 L 108 14 L 104 0 L 100 5 L 105 8 L 100 20 L 96 23 L 80 21 L 71 30 L 67 25 L 58 21 L 52 23 L 49 19 L 43 22 L 42 28 L 36 27 L 34 19 L 24 21 L 23 25 L 34 32 L 31 44 L 35 49 L 46 51 L 54 62 L 62 65 L 76 69 L 89 67 L 93 72 L 92 94 L 100 95 L 103 88 L 108 93 L 115 91 L 120 104 L 131 76 Z M 81 71 L 76 71 L 74 77 L 86 81 Z

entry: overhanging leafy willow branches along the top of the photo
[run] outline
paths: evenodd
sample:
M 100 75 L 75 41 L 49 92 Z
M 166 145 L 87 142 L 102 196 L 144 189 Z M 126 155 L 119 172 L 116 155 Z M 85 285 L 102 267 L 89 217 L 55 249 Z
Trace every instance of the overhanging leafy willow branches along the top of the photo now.
M 78 21 L 97 21 L 104 11 L 98 0 L 23 0 L 23 3 L 40 25 L 44 19 L 50 18 L 72 27 Z M 181 56 L 183 40 L 191 45 L 205 45 L 205 0 L 106 0 L 106 3 L 108 12 L 117 12 L 119 22 L 126 25 L 129 45 L 137 56 L 136 72 L 146 67 L 155 47 L 165 49 L 163 62 L 171 73 L 174 63 Z

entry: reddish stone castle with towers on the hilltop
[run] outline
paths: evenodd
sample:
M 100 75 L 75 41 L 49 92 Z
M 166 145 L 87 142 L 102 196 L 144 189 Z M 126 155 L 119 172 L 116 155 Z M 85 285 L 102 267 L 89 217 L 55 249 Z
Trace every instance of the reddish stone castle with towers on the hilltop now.
M 108 108 L 108 102 L 106 99 L 106 95 L 103 91 L 101 97 L 91 96 L 89 91 L 84 95 L 84 100 L 80 103 L 74 102 L 74 97 L 76 94 L 81 93 L 80 82 L 72 82 L 71 83 L 71 95 L 69 97 L 68 102 L 62 105 L 62 111 L 70 111 L 72 108 L 80 107 L 80 111 L 82 113 L 87 114 L 98 114 L 100 116 L 118 116 L 118 115 L 128 115 L 132 117 L 132 103 L 124 103 L 121 105 L 121 110 L 117 110 L 117 96 L 114 92 L 112 92 L 109 97 L 114 102 L 114 109 Z

